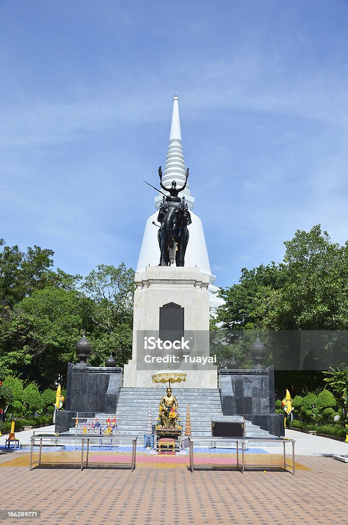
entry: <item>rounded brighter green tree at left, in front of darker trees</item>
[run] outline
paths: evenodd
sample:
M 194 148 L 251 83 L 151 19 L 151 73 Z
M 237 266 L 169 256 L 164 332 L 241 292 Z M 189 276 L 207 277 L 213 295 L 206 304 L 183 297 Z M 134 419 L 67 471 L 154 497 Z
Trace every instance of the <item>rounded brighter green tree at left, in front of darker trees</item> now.
M 52 385 L 58 373 L 66 374 L 67 363 L 75 362 L 76 342 L 89 328 L 89 302 L 81 292 L 53 286 L 25 297 L 3 323 L 0 366 Z

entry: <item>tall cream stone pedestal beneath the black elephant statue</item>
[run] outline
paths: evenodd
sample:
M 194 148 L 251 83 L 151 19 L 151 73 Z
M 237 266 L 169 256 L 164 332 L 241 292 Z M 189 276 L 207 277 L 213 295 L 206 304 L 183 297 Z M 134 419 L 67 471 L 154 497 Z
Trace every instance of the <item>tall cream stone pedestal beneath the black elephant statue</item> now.
M 132 359 L 124 366 L 124 386 L 157 387 L 152 383 L 153 370 L 142 370 L 145 358 L 140 334 L 151 331 L 159 337 L 160 308 L 175 303 L 183 309 L 185 332 L 195 332 L 200 353 L 209 356 L 209 276 L 194 267 L 148 266 L 135 276 Z M 164 368 L 165 365 L 162 365 Z M 170 369 L 176 366 L 170 364 Z M 175 388 L 216 388 L 217 369 L 185 370 L 186 382 Z

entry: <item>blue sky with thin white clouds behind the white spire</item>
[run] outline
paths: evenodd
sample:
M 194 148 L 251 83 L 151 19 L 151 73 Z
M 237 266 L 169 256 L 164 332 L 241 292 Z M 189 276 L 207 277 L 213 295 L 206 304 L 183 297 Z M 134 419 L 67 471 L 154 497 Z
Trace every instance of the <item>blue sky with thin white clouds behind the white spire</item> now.
M 0 237 L 136 267 L 172 95 L 218 286 L 348 238 L 348 3 L 0 2 Z

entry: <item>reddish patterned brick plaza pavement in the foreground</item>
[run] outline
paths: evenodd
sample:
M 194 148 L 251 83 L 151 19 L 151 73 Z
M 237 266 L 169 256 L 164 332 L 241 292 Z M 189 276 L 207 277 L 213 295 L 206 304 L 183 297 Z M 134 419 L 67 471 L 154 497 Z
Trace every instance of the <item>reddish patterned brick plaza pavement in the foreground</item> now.
M 41 518 L 5 525 L 347 523 L 348 464 L 330 457 L 296 456 L 295 476 L 233 467 L 192 474 L 185 464 L 141 461 L 134 472 L 27 465 L 27 453 L 0 456 L 1 508 L 40 510 Z

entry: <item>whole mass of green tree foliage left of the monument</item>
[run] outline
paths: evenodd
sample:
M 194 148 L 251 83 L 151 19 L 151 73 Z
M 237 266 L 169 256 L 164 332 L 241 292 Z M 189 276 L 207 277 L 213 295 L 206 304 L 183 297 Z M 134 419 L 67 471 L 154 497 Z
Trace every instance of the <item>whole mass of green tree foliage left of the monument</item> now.
M 52 387 L 84 330 L 93 346 L 90 363 L 130 357 L 134 271 L 100 265 L 84 279 L 53 270 L 54 252 L 25 252 L 0 239 L 0 367 L 40 388 Z M 0 378 L 1 379 L 1 378 Z M 12 378 L 14 380 L 14 378 Z M 64 379 L 63 379 L 64 383 Z M 18 401 L 18 396 L 16 397 Z

